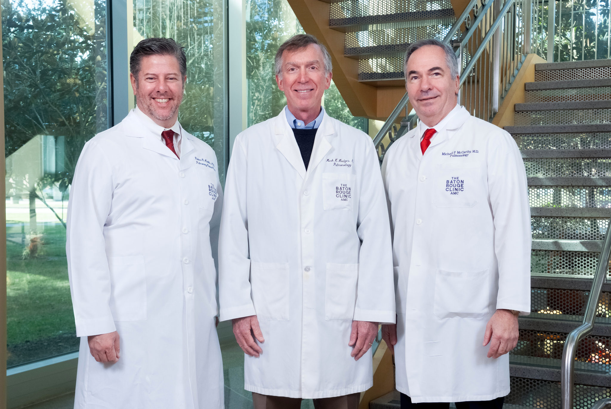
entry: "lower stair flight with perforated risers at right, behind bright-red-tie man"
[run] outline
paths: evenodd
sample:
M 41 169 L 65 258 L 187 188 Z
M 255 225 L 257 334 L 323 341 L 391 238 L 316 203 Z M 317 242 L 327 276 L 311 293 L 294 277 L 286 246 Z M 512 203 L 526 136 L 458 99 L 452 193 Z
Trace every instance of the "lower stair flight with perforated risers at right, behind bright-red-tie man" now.
M 536 64 L 505 130 L 522 152 L 532 206 L 532 311 L 519 318 L 505 408 L 560 409 L 564 341 L 584 319 L 611 216 L 611 60 Z M 574 379 L 576 409 L 611 397 L 611 284 L 577 344 Z M 370 403 L 398 407 L 397 391 Z

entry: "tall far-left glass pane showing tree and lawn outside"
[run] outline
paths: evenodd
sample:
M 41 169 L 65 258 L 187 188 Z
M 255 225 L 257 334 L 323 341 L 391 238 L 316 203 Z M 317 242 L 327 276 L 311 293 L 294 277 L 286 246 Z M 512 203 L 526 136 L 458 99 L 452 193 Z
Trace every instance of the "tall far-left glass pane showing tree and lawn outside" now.
M 105 0 L 2 0 L 7 366 L 78 350 L 65 255 L 82 146 L 108 128 Z

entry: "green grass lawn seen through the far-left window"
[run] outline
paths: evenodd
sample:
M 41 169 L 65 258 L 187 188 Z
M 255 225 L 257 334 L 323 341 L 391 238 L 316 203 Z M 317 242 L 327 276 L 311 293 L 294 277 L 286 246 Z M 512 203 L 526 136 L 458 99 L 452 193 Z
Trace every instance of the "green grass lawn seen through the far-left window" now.
M 24 259 L 25 246 L 15 240 L 7 242 L 9 353 L 24 344 L 39 345 L 40 349 L 45 339 L 75 333 L 65 256 L 66 230 L 61 224 L 45 224 L 40 229 L 43 229 L 40 234 L 43 244 L 38 246 L 37 257 Z M 25 241 L 27 245 L 29 237 Z M 48 345 L 48 348 L 49 351 L 57 350 L 56 345 Z M 20 359 L 27 359 L 27 356 Z

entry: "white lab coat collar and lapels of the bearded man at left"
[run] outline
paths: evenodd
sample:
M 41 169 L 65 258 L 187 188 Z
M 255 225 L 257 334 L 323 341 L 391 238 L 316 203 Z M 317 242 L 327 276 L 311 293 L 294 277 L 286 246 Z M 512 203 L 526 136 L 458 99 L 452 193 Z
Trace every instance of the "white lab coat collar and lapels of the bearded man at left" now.
M 174 152 L 169 150 L 161 141 L 161 131 L 165 128 L 150 120 L 157 128 L 153 127 L 147 120 L 141 118 L 144 112 L 136 112 L 136 109 L 137 108 L 132 109 L 125 119 L 121 121 L 126 136 L 130 136 L 131 138 L 142 138 L 142 147 L 144 149 L 152 150 L 153 152 L 159 153 L 159 155 L 178 160 Z M 192 142 L 192 139 L 195 137 L 185 131 L 185 128 L 183 128 L 178 121 L 176 121 L 170 129 L 180 134 L 181 137 L 180 168 L 186 169 L 191 167 L 192 163 L 188 163 L 186 158 L 189 156 L 188 153 L 195 149 Z M 159 136 L 157 136 L 157 131 L 159 131 Z

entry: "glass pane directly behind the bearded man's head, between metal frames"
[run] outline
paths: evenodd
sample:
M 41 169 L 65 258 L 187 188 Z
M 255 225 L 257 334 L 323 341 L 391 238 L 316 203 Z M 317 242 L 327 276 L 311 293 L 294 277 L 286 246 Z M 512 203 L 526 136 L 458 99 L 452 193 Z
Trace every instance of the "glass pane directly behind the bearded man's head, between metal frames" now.
M 227 168 L 227 47 L 224 0 L 133 0 L 134 44 L 148 37 L 171 37 L 185 47 L 187 82 L 178 121 L 207 142 Z

